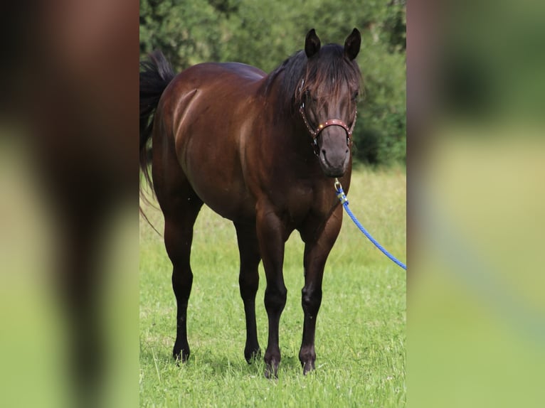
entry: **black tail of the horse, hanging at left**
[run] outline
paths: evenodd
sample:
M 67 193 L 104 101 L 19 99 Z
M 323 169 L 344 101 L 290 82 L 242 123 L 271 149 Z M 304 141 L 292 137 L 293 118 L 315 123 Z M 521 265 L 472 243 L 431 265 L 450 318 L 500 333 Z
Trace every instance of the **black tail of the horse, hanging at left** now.
M 149 174 L 151 147 L 148 141 L 152 136 L 155 110 L 166 86 L 176 76 L 174 70 L 163 53 L 154 50 L 149 54 L 149 60 L 140 62 L 140 170 L 145 180 L 153 188 Z

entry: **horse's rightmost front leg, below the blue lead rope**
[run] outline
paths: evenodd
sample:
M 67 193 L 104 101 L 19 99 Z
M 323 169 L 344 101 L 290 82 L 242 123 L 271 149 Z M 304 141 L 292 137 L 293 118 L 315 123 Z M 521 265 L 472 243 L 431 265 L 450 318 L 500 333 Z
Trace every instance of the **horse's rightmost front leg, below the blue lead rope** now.
M 319 235 L 302 234 L 305 241 L 305 286 L 302 289 L 301 304 L 305 317 L 299 360 L 305 375 L 315 368 L 314 333 L 319 307 L 322 304 L 322 278 L 327 256 L 337 240 L 341 223 L 342 207 L 339 205 Z

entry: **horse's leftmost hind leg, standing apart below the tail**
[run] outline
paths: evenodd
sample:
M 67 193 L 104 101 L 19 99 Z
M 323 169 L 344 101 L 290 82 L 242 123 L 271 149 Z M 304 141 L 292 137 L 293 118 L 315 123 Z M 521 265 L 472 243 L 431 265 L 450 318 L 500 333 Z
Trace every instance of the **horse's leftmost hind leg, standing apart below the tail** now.
M 188 190 L 188 193 L 182 194 L 175 202 L 178 204 L 172 206 L 176 208 L 175 211 L 164 212 L 164 243 L 172 262 L 172 289 L 177 304 L 176 341 L 172 355 L 175 360 L 185 362 L 190 354 L 187 341 L 187 304 L 193 284 L 189 259 L 193 227 L 203 203 L 193 190 Z

